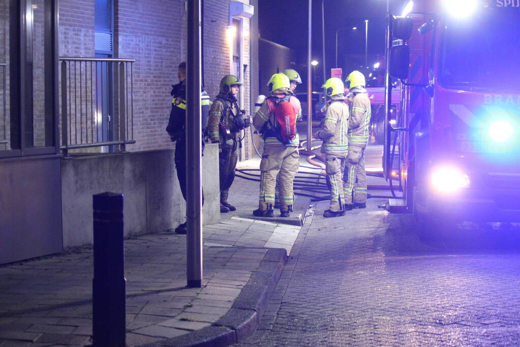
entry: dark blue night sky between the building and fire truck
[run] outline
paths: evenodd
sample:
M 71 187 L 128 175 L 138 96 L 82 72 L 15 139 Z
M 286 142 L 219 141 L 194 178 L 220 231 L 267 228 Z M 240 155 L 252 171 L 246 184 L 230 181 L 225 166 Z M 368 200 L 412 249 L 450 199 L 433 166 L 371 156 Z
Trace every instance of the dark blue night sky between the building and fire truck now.
M 399 12 L 405 0 L 391 0 L 391 10 Z M 259 0 L 260 35 L 293 48 L 297 60 L 307 57 L 307 14 L 305 0 Z M 365 54 L 365 20 L 368 26 L 368 54 L 384 53 L 386 0 L 324 0 L 327 71 L 334 67 L 335 35 L 339 51 Z M 357 31 L 352 27 L 357 26 Z M 313 1 L 313 58 L 321 62 L 321 0 Z M 369 62 L 370 63 L 370 62 Z M 321 71 L 321 68 L 319 69 Z

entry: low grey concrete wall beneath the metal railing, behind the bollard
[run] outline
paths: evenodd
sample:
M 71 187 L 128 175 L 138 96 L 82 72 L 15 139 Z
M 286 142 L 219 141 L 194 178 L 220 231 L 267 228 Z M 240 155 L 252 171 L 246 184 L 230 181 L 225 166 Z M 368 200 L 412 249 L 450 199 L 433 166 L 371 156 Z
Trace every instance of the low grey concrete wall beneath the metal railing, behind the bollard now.
M 176 228 L 186 204 L 175 171 L 174 150 L 127 152 L 62 159 L 63 247 L 93 242 L 92 195 L 124 194 L 125 237 Z M 203 157 L 203 223 L 220 221 L 218 146 Z

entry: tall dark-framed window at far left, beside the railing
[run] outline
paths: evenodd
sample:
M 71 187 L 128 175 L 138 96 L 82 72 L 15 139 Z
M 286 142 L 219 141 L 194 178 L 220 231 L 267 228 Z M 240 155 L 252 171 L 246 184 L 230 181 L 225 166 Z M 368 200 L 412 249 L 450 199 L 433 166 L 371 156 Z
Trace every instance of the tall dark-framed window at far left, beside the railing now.
M 55 154 L 57 2 L 6 0 L 0 6 L 0 156 Z

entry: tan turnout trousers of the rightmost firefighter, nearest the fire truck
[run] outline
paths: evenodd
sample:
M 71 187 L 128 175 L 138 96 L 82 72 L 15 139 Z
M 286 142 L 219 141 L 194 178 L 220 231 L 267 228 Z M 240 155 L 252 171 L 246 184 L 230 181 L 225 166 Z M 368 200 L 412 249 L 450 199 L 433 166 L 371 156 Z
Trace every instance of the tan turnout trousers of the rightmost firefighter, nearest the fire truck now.
M 364 148 L 353 145 L 348 146 L 343 180 L 345 185 L 345 204 L 367 202 L 367 174 L 365 172 Z

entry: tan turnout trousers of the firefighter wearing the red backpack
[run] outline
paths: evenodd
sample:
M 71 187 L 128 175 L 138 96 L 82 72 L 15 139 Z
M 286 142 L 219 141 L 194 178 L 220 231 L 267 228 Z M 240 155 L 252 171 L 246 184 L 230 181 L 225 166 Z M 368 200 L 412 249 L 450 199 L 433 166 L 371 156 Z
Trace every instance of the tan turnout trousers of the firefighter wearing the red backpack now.
M 294 202 L 293 181 L 300 166 L 300 154 L 296 146 L 264 144 L 260 162 L 260 197 L 258 207 L 266 210 L 275 204 L 276 176 L 280 172 L 280 210 L 287 211 Z

